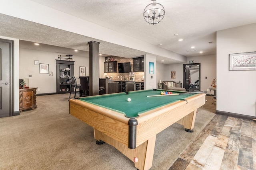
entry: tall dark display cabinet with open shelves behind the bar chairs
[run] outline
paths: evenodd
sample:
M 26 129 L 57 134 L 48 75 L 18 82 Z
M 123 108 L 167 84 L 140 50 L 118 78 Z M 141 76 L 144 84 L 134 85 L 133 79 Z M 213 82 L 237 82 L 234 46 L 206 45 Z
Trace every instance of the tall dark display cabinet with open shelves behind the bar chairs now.
M 74 61 L 56 60 L 56 93 L 69 93 L 68 76 L 74 76 Z

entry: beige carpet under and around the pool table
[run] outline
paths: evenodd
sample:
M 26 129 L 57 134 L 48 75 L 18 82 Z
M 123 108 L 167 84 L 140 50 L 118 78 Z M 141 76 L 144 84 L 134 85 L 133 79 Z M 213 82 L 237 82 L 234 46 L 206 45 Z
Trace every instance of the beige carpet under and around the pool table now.
M 38 107 L 0 118 L 0 170 L 136 170 L 114 147 L 96 145 L 93 128 L 69 114 L 69 94 L 38 96 Z M 194 133 L 174 124 L 156 136 L 150 170 L 167 170 L 215 115 L 209 96 Z

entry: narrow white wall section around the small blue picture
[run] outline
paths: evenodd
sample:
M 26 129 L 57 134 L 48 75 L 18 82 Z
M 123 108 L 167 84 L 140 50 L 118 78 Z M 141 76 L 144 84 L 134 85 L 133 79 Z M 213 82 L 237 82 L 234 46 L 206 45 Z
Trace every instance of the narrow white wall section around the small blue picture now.
M 149 74 L 149 62 L 154 63 L 154 74 Z M 156 88 L 156 57 L 152 55 L 144 55 L 144 89 Z M 151 78 L 152 76 L 152 78 Z

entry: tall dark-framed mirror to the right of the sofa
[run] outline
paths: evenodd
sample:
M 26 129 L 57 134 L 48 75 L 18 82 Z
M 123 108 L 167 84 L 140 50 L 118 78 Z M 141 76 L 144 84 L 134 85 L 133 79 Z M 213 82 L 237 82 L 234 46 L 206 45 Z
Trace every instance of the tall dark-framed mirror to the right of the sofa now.
M 183 87 L 187 92 L 200 91 L 200 63 L 183 64 Z

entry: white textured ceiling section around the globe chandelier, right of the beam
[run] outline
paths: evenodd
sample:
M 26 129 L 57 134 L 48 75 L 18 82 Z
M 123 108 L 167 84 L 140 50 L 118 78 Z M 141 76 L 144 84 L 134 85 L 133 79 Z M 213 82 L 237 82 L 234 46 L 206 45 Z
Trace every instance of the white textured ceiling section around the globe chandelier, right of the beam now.
M 184 56 L 216 53 L 216 31 L 256 22 L 256 0 L 157 0 L 164 19 L 143 18 L 150 0 L 32 0 Z M 178 36 L 174 36 L 178 33 Z M 178 39 L 184 41 L 179 42 Z M 214 44 L 208 42 L 213 41 Z M 187 52 L 191 46 L 196 52 Z

